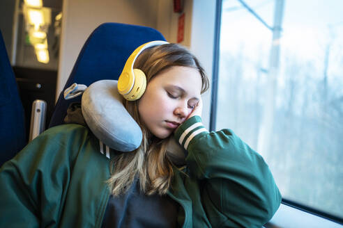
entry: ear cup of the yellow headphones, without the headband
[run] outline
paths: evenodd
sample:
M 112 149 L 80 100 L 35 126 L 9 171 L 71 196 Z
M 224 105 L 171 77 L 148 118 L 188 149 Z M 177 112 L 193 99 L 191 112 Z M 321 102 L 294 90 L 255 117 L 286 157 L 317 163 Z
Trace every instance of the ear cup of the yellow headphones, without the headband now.
M 133 74 L 135 74 L 135 84 L 128 95 L 124 96 L 129 101 L 135 101 L 141 98 L 146 89 L 146 76 L 144 72 L 139 69 L 133 69 Z

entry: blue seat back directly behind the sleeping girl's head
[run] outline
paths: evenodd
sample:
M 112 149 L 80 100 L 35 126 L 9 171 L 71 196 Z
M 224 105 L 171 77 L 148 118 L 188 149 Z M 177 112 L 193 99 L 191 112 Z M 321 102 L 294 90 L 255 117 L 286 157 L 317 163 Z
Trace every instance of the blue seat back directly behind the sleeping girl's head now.
M 165 38 L 155 29 L 145 26 L 101 24 L 82 47 L 63 91 L 73 83 L 89 86 L 103 79 L 117 80 L 130 54 L 139 45 L 152 40 Z M 49 127 L 63 123 L 69 104 L 81 102 L 81 97 L 65 100 L 63 91 L 56 102 Z

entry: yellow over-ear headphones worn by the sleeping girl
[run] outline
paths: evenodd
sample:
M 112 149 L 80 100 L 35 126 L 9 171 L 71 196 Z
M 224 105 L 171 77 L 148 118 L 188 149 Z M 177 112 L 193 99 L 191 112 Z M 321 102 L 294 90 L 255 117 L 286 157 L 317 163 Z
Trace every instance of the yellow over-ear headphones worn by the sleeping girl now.
M 126 60 L 123 72 L 118 79 L 118 92 L 123 95 L 123 97 L 129 101 L 135 101 L 142 97 L 146 88 L 146 76 L 142 70 L 133 69 L 133 64 L 139 54 L 147 49 L 148 47 L 158 46 L 162 44 L 168 44 L 166 41 L 155 40 L 147 42 L 137 47 L 135 51 L 132 52 L 128 60 Z

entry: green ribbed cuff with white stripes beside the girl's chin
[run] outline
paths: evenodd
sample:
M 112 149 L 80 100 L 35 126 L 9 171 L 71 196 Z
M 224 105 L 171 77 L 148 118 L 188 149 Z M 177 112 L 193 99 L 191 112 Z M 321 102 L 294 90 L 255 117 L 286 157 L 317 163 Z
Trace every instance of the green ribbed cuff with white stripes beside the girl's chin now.
M 202 124 L 201 117 L 195 115 L 190 117 L 190 119 L 186 120 L 180 125 L 180 127 L 178 127 L 174 137 L 178 143 L 180 143 L 180 145 L 187 149 L 188 145 L 190 145 L 190 141 L 203 135 L 204 133 L 208 133 L 208 131 Z

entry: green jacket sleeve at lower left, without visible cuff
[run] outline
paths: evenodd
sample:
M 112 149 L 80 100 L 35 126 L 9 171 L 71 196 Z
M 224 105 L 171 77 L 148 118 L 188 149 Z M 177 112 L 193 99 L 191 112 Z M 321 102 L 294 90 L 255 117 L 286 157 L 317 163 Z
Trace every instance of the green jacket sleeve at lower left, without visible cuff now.
M 0 227 L 54 227 L 61 215 L 77 137 L 45 131 L 0 169 Z M 75 136 L 77 134 L 74 131 Z

